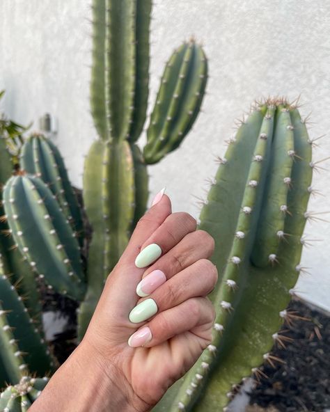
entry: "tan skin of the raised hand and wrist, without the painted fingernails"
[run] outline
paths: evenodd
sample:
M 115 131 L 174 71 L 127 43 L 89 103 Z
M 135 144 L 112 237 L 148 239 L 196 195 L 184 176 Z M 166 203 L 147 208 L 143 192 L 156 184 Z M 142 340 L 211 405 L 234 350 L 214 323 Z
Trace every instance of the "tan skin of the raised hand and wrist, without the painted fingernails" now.
M 162 256 L 146 269 L 134 264 L 148 244 Z M 84 340 L 54 374 L 31 412 L 150 411 L 166 390 L 194 365 L 210 344 L 214 308 L 207 294 L 217 282 L 208 260 L 214 241 L 186 213 L 172 213 L 168 196 L 139 221 L 111 272 Z M 139 301 L 136 285 L 154 269 L 166 282 L 148 298 L 158 312 L 141 324 L 129 322 Z M 152 339 L 132 348 L 127 340 L 148 326 Z

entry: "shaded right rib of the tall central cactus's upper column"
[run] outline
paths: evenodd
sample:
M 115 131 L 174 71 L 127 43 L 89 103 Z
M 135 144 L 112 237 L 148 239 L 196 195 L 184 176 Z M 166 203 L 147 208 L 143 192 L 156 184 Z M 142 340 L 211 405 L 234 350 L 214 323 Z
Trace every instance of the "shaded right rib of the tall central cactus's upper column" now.
M 136 0 L 135 93 L 129 141 L 136 141 L 146 121 L 149 94 L 149 33 L 151 0 Z

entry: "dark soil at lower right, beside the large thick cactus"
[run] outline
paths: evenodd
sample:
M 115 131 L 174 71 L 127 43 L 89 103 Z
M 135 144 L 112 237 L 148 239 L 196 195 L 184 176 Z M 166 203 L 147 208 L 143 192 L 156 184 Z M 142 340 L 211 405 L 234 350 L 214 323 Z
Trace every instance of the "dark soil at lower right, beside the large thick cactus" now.
M 250 403 L 280 412 L 324 412 L 330 409 L 330 317 L 297 300 L 289 309 L 308 321 L 298 318 L 285 325 L 283 335 L 292 341 L 272 351 L 285 363 L 276 363 L 275 370 L 262 367 L 267 379 L 260 377 Z

